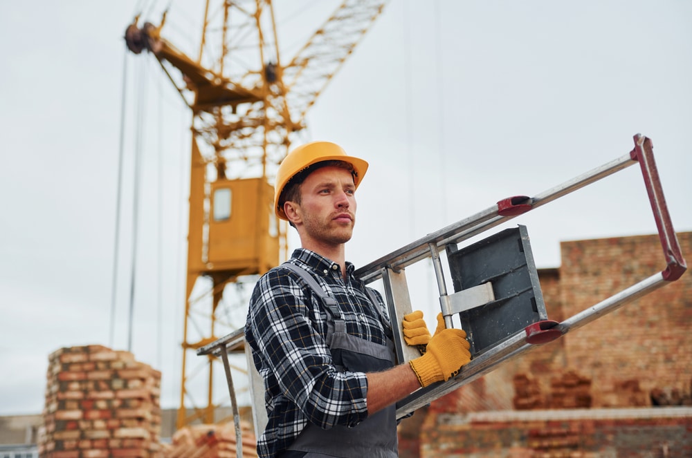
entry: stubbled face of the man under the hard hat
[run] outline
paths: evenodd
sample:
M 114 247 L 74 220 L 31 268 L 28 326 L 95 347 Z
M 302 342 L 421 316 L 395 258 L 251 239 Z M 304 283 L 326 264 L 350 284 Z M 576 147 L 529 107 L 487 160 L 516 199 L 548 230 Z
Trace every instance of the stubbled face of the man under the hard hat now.
M 349 241 L 356 223 L 355 191 L 346 169 L 327 166 L 310 173 L 300 185 L 302 238 L 327 245 Z

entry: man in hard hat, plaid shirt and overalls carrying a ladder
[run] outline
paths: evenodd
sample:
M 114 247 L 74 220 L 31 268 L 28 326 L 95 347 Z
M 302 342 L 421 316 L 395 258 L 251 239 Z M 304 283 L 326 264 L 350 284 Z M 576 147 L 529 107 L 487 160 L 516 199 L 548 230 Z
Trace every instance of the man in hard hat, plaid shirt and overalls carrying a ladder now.
M 406 341 L 426 352 L 394 365 L 381 295 L 345 260 L 366 170 L 330 142 L 298 146 L 279 167 L 275 213 L 298 231 L 301 248 L 257 282 L 245 327 L 268 415 L 260 457 L 397 457 L 394 403 L 471 360 L 463 330 L 441 323 L 430 336 L 415 312 Z

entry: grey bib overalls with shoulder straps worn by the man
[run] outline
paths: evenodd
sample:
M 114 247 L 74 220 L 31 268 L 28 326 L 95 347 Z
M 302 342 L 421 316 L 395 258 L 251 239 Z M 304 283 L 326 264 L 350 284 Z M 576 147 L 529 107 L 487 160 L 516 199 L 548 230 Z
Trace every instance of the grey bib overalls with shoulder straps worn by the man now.
M 346 323 L 336 300 L 325 293 L 317 281 L 302 267 L 284 263 L 313 289 L 327 310 L 327 345 L 339 372 L 381 372 L 394 367 L 394 344 L 381 345 L 346 333 Z M 365 288 L 377 313 L 380 314 L 374 294 Z M 305 458 L 394 458 L 399 456 L 397 440 L 397 409 L 390 405 L 367 417 L 354 428 L 334 426 L 323 430 L 308 423 L 288 450 L 307 452 Z

